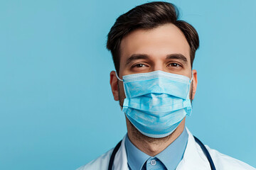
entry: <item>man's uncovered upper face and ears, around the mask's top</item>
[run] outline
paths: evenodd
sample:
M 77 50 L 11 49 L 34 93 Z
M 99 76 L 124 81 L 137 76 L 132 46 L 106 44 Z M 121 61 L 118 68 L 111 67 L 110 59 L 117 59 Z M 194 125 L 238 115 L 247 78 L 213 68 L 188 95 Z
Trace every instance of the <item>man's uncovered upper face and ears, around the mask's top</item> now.
M 154 72 L 161 70 L 181 74 L 191 79 L 193 74 L 193 93 L 196 92 L 196 70 L 191 71 L 190 47 L 176 26 L 165 24 L 150 30 L 134 30 L 125 36 L 120 45 L 119 77 L 127 74 Z M 110 74 L 110 84 L 114 99 L 120 105 L 124 101 L 122 81 L 117 81 L 114 72 Z

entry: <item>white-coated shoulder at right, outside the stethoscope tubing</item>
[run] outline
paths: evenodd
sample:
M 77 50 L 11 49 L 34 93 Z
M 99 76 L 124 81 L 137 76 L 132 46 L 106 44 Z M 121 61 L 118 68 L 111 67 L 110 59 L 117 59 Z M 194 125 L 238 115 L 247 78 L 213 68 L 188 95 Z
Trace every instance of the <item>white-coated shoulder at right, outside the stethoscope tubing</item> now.
M 245 162 L 241 162 L 238 159 L 235 159 L 233 157 L 229 157 L 228 155 L 222 154 L 215 149 L 210 149 L 210 147 L 208 147 L 207 145 L 206 145 L 206 148 L 210 152 L 210 156 L 213 159 L 216 169 L 256 170 L 255 168 L 246 164 Z

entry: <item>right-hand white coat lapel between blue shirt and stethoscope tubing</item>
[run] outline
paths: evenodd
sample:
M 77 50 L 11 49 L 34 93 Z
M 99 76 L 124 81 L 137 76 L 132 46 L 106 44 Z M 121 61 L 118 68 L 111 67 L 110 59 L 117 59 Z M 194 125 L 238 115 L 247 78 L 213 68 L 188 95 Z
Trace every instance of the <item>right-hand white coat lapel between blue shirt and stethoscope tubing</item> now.
M 193 135 L 189 132 L 188 128 L 188 144 L 183 155 L 183 159 L 178 164 L 177 170 L 181 169 L 196 169 L 196 170 L 207 170 L 210 169 L 208 159 L 201 147 L 196 143 Z

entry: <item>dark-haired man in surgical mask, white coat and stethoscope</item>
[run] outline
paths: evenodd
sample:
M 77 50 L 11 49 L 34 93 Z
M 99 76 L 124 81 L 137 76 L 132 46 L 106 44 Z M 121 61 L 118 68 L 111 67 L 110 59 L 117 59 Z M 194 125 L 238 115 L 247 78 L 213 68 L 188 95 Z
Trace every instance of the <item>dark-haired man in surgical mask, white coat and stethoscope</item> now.
M 108 34 L 114 100 L 127 121 L 117 147 L 84 169 L 254 169 L 205 147 L 185 128 L 196 94 L 198 33 L 173 4 L 151 2 L 117 18 Z

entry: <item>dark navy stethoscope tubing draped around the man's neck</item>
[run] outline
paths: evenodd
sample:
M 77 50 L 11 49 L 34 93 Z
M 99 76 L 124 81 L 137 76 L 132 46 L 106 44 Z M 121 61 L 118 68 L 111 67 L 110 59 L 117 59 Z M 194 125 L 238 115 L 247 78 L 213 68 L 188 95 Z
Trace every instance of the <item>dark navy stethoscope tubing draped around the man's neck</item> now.
M 201 149 L 203 150 L 203 153 L 206 155 L 207 159 L 208 159 L 208 162 L 210 163 L 210 169 L 211 170 L 216 170 L 215 169 L 215 166 L 213 164 L 213 159 L 210 157 L 210 154 L 208 152 L 208 150 L 206 149 L 206 147 L 203 145 L 203 143 L 198 140 L 198 138 L 194 137 L 196 142 L 198 143 L 198 145 L 201 147 Z M 121 142 L 122 140 L 117 144 L 116 147 L 114 147 L 114 150 L 111 154 L 111 157 L 110 157 L 110 163 L 109 163 L 109 167 L 108 167 L 108 170 L 112 170 L 112 166 L 113 166 L 113 163 L 114 163 L 114 156 L 117 154 L 117 151 L 119 149 L 119 147 L 121 146 Z

